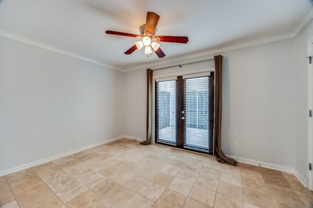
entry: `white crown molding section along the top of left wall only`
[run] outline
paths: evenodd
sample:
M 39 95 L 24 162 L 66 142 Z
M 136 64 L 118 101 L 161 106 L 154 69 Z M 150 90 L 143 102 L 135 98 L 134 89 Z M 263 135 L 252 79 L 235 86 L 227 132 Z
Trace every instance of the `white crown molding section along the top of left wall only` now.
M 114 69 L 114 70 L 118 70 L 118 71 L 123 72 L 122 69 L 114 67 L 112 65 L 109 65 L 109 64 L 106 64 L 106 63 L 102 63 L 102 62 L 99 62 L 99 61 L 95 61 L 95 60 L 92 60 L 92 59 L 89 59 L 89 58 L 86 58 L 86 57 L 82 57 L 82 56 L 79 56 L 77 54 L 73 54 L 73 53 L 67 52 L 65 50 L 62 50 L 60 48 L 56 48 L 56 47 L 51 46 L 51 45 L 49 45 L 47 43 L 43 43 L 43 42 L 31 39 L 31 38 L 26 38 L 26 37 L 23 37 L 21 35 L 10 33 L 10 32 L 4 31 L 4 30 L 0 30 L 0 36 L 3 37 L 3 38 L 16 40 L 16 41 L 19 41 L 19 42 L 22 42 L 22 43 L 26 43 L 28 45 L 32 45 L 32 46 L 36 46 L 36 47 L 39 47 L 39 48 L 43 48 L 43 49 L 48 50 L 48 51 L 53 51 L 55 53 L 62 54 L 62 55 L 68 56 L 68 57 L 77 58 L 77 59 L 80 59 L 80 60 L 83 60 L 83 61 L 87 61 L 89 63 L 93 63 L 93 64 L 96 64 L 96 65 L 104 66 L 104 67 L 107 67 L 107 68 L 110 68 L 110 69 Z

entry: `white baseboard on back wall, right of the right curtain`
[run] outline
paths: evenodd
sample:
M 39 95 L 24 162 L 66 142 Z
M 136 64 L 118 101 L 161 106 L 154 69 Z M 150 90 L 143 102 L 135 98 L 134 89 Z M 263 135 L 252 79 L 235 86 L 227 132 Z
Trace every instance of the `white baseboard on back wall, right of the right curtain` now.
M 268 169 L 273 169 L 273 170 L 280 170 L 280 171 L 284 171 L 284 172 L 294 173 L 294 169 L 290 168 L 290 167 L 276 165 L 276 164 L 272 164 L 272 163 L 261 162 L 261 161 L 257 161 L 257 160 L 246 159 L 246 158 L 242 158 L 242 157 L 231 156 L 231 155 L 226 155 L 226 156 L 231 158 L 231 159 L 237 160 L 238 162 L 241 162 L 241 163 L 260 166 L 263 168 L 268 168 Z

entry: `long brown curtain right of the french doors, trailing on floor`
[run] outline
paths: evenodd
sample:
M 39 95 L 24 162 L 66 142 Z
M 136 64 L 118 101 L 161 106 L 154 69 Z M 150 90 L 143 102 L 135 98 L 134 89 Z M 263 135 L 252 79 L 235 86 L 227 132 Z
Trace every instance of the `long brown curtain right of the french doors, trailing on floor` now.
M 221 55 L 214 57 L 215 61 L 215 99 L 214 99 L 214 156 L 220 163 L 229 163 L 230 165 L 237 165 L 237 161 L 226 157 L 221 148 L 221 129 L 222 129 L 222 62 Z

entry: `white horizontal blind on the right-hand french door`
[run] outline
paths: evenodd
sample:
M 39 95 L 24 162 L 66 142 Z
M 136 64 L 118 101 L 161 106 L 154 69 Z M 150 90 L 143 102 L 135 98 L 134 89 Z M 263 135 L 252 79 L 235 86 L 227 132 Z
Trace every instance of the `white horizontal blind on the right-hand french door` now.
M 209 151 L 209 77 L 184 79 L 184 148 Z

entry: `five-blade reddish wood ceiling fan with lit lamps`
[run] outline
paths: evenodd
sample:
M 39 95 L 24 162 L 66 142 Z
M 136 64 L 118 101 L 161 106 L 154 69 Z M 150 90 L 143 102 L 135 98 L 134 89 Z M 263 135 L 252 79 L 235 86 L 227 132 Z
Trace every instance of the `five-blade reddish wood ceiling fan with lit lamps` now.
M 158 22 L 158 16 L 154 12 L 147 13 L 146 24 L 139 27 L 140 35 L 116 32 L 112 30 L 107 30 L 106 34 L 118 35 L 118 36 L 129 36 L 134 38 L 141 38 L 141 40 L 136 41 L 135 44 L 128 49 L 124 54 L 131 54 L 136 49 L 140 50 L 145 46 L 145 54 L 152 54 L 152 50 L 156 53 L 159 58 L 165 57 L 165 54 L 160 48 L 160 44 L 157 42 L 175 42 L 175 43 L 187 43 L 188 37 L 184 36 L 156 36 L 156 24 Z

